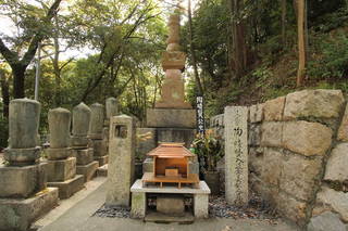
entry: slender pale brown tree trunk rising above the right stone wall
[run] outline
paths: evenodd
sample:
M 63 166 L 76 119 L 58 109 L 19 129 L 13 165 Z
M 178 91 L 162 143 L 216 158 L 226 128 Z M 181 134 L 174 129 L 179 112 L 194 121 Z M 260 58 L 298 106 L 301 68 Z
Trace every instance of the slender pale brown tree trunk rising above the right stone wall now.
M 301 87 L 306 76 L 306 36 L 304 36 L 304 9 L 306 0 L 298 0 L 297 31 L 298 31 L 298 70 L 296 86 Z

